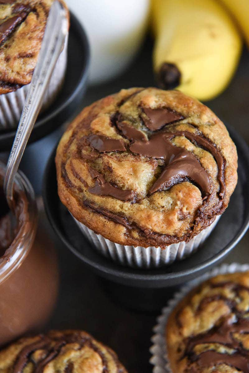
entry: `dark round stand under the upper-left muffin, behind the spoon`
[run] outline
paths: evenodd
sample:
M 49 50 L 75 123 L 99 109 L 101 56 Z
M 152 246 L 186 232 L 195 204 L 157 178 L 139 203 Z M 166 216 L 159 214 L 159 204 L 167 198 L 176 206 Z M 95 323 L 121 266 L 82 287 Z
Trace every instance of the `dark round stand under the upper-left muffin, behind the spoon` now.
M 87 87 L 89 57 L 89 45 L 85 31 L 77 18 L 70 13 L 65 82 L 52 106 L 38 116 L 29 143 L 50 134 L 75 114 Z M 0 151 L 11 149 L 15 134 L 16 131 L 0 131 Z

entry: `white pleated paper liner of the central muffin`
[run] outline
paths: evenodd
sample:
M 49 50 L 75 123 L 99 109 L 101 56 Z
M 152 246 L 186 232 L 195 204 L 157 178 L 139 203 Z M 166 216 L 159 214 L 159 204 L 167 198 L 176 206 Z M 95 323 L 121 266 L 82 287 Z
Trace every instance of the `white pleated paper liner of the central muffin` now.
M 151 246 L 144 248 L 141 246 L 134 247 L 116 244 L 102 235 L 94 233 L 74 218 L 81 232 L 100 254 L 123 266 L 147 269 L 168 265 L 175 260 L 181 260 L 193 254 L 205 239 L 208 238 L 219 219 L 220 215 L 216 217 L 215 221 L 208 228 L 203 229 L 202 232 L 189 242 L 172 244 L 167 246 L 165 250 L 162 250 L 160 247 Z

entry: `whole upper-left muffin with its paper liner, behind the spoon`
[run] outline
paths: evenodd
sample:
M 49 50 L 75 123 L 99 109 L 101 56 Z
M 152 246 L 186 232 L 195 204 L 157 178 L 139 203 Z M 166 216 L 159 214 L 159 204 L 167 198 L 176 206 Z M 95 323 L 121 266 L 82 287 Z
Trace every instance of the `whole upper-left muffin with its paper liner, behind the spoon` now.
M 66 8 L 63 0 L 60 0 Z M 53 0 L 0 0 L 0 129 L 16 126 L 37 63 Z M 66 11 L 69 12 L 66 8 Z M 66 69 L 67 40 L 53 72 L 43 109 L 55 99 Z

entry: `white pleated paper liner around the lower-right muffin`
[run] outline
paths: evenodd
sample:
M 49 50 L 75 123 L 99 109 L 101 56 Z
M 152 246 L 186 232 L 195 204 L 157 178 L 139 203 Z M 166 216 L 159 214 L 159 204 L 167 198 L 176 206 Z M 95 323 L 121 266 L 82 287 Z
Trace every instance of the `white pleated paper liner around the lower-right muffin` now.
M 174 298 L 168 301 L 168 305 L 162 309 L 162 314 L 157 318 L 157 325 L 153 328 L 154 335 L 151 341 L 153 342 L 150 347 L 150 363 L 154 365 L 153 373 L 172 373 L 167 357 L 166 340 L 165 340 L 165 327 L 169 315 L 172 313 L 177 304 L 196 286 L 205 280 L 226 273 L 245 272 L 249 270 L 249 264 L 222 264 L 220 267 L 215 267 L 209 272 L 199 278 L 189 282 L 183 286 L 180 291 L 176 292 Z

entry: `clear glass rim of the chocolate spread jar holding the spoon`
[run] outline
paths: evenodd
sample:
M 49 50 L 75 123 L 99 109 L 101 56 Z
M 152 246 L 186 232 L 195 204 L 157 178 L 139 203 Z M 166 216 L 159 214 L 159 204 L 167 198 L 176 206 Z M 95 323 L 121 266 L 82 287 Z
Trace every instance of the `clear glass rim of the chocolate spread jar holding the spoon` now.
M 4 177 L 6 165 L 2 162 L 0 162 L 0 170 L 1 176 Z M 37 231 L 38 213 L 34 189 L 28 178 L 21 171 L 16 174 L 15 188 L 19 193 L 25 193 L 28 202 L 28 219 L 19 227 L 12 244 L 0 258 L 0 283 L 21 266 L 29 253 Z

